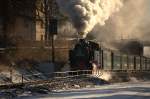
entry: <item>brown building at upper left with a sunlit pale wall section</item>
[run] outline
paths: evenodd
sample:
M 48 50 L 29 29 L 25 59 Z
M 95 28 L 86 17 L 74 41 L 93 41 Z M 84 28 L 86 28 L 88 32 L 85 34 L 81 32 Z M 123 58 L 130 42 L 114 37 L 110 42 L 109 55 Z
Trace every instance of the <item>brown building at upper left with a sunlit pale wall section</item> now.
M 44 17 L 43 0 L 1 0 L 0 38 L 44 40 Z

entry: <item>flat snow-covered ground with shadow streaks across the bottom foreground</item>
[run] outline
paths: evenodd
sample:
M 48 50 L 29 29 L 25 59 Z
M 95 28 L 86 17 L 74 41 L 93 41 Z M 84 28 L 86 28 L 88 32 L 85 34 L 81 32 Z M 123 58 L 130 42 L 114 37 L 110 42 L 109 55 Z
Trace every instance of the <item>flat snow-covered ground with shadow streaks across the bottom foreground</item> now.
M 150 99 L 150 81 L 56 90 L 49 94 L 26 93 L 15 99 Z

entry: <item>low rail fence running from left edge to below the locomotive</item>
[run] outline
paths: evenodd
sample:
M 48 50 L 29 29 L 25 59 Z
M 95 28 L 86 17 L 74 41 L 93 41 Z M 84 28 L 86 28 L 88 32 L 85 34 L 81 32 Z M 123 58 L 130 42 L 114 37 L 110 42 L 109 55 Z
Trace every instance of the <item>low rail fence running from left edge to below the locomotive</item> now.
M 0 83 L 0 85 L 9 84 L 24 84 L 35 82 L 48 82 L 53 79 L 66 79 L 66 78 L 78 78 L 89 77 L 92 75 L 92 70 L 78 70 L 78 71 L 66 71 L 66 72 L 54 72 L 54 73 L 38 73 L 32 75 L 12 74 L 10 75 L 10 81 Z

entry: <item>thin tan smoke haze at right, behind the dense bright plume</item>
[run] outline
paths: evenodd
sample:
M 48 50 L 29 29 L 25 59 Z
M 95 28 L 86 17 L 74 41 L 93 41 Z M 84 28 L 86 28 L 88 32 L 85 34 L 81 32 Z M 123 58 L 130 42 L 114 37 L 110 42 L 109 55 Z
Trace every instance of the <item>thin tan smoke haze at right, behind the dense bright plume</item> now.
M 96 25 L 91 34 L 102 41 L 119 39 L 150 41 L 149 5 L 150 0 L 124 0 L 120 11 L 113 14 L 105 26 Z

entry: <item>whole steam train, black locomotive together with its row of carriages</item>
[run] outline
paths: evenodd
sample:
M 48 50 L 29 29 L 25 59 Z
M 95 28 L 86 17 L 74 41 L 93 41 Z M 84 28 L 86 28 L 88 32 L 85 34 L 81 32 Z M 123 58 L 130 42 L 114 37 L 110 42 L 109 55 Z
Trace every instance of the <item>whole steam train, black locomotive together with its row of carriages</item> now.
M 69 51 L 69 61 L 71 70 L 92 70 L 93 62 L 104 70 L 150 70 L 150 58 L 111 51 L 85 39 L 80 39 Z

